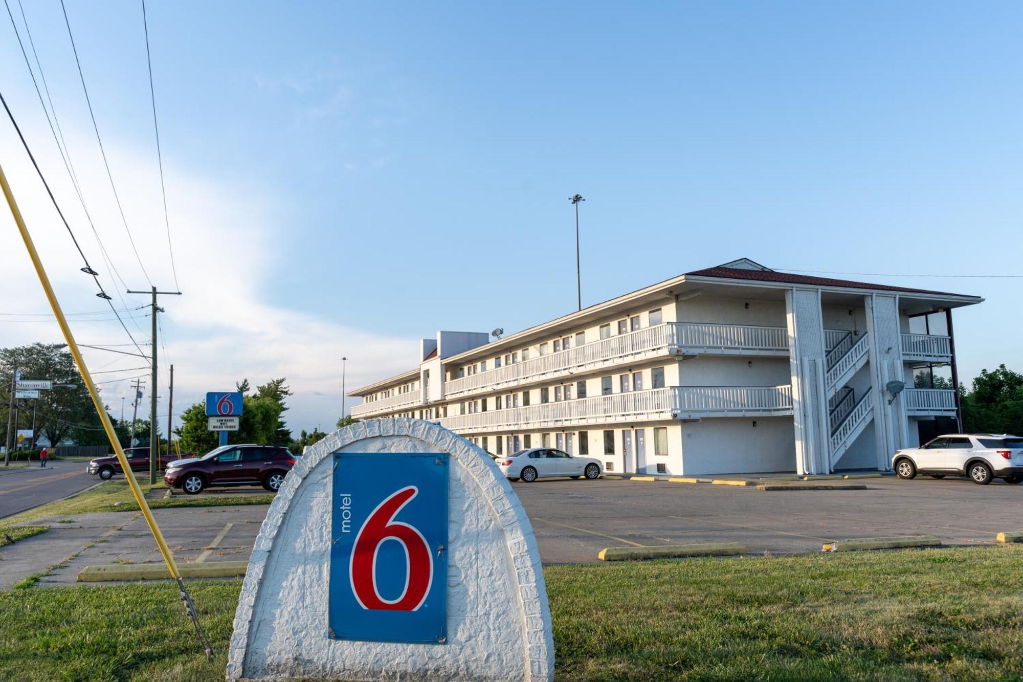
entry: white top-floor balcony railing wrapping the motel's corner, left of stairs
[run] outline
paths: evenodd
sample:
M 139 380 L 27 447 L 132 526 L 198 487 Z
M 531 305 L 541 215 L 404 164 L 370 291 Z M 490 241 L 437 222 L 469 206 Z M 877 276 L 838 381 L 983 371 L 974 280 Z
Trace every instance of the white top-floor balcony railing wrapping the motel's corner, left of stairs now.
M 455 397 L 532 377 L 672 347 L 751 352 L 788 351 L 789 338 L 784 327 L 664 323 L 487 372 L 450 379 L 444 384 L 444 395 Z

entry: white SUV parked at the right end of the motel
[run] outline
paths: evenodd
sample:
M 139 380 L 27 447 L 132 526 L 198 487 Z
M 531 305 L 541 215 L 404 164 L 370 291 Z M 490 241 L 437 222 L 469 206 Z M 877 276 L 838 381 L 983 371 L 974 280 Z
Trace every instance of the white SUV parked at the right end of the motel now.
M 906 447 L 892 457 L 899 478 L 918 473 L 932 478 L 969 476 L 987 485 L 992 478 L 1023 482 L 1023 438 L 1008 433 L 952 433 L 920 447 Z

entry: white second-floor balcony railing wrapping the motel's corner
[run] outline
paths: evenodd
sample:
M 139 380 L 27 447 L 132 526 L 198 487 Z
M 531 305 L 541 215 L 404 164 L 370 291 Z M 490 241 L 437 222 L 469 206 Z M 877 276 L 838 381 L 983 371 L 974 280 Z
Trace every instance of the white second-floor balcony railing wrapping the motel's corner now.
M 613 393 L 441 419 L 459 433 L 696 417 L 792 413 L 790 386 L 672 387 Z

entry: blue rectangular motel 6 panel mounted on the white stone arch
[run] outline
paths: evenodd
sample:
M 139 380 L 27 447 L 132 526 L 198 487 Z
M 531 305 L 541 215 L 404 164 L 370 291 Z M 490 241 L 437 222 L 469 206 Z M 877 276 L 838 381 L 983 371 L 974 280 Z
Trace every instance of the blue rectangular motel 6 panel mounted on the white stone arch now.
M 336 453 L 330 636 L 447 640 L 447 453 Z

